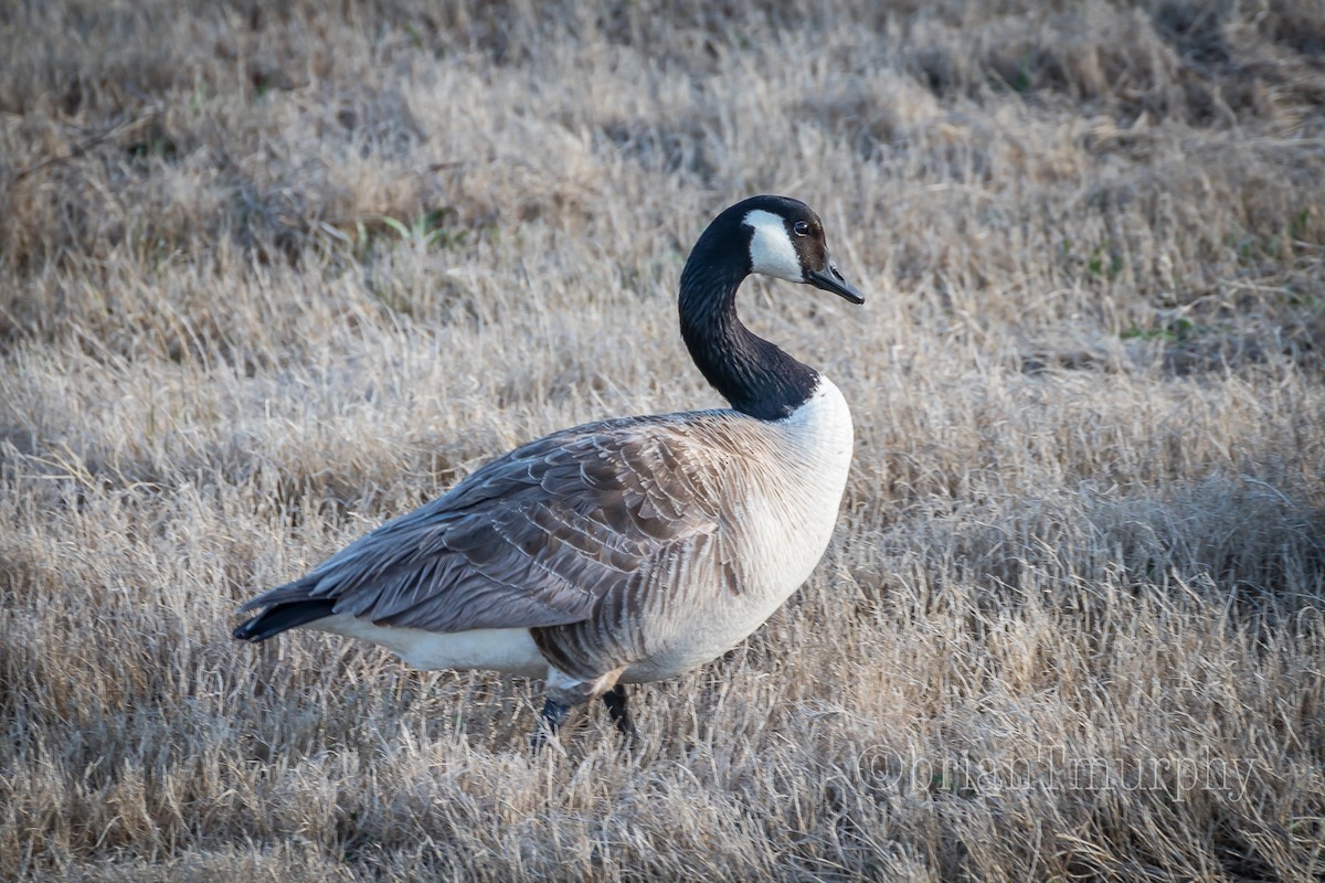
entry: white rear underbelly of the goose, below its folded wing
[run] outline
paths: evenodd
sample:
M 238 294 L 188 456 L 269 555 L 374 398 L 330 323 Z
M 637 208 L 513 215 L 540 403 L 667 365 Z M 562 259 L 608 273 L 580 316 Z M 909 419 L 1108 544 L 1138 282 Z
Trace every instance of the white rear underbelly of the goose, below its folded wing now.
M 428 631 L 425 629 L 374 625 L 344 613 L 318 620 L 309 627 L 362 638 L 386 647 L 415 669 L 486 669 L 542 678 L 547 659 L 538 653 L 529 629 L 472 629 Z

